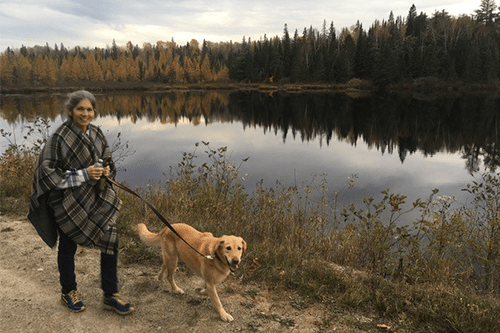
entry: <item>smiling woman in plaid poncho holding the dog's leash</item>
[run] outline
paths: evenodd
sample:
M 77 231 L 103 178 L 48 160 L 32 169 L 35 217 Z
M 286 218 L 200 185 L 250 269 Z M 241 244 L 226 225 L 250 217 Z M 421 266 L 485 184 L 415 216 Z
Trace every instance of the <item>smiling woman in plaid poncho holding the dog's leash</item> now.
M 101 129 L 93 124 L 94 95 L 72 93 L 65 103 L 69 116 L 45 144 L 34 174 L 28 219 L 42 239 L 54 247 L 59 236 L 57 264 L 61 300 L 69 310 L 85 306 L 77 292 L 77 245 L 101 250 L 101 287 L 104 307 L 120 315 L 135 310 L 118 294 L 118 234 L 116 219 L 121 200 L 101 176 L 114 174 L 111 151 Z M 107 161 L 107 166 L 96 164 Z M 106 164 L 106 162 L 105 162 Z

